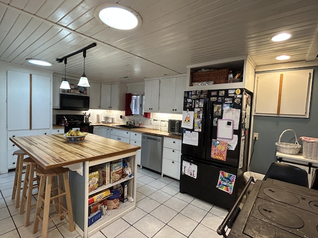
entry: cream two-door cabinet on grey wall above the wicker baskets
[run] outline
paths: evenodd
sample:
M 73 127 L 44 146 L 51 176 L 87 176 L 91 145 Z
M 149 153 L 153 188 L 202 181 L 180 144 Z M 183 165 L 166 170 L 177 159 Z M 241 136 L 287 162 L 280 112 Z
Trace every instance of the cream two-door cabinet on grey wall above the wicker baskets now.
M 254 115 L 309 118 L 313 69 L 256 74 Z

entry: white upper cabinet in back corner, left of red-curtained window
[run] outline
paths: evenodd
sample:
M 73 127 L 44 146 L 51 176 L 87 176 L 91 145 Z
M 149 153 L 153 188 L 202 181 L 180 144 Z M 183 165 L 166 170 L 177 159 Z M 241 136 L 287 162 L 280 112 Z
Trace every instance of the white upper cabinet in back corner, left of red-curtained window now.
M 101 84 L 100 108 L 105 110 L 125 110 L 127 86 L 124 83 Z

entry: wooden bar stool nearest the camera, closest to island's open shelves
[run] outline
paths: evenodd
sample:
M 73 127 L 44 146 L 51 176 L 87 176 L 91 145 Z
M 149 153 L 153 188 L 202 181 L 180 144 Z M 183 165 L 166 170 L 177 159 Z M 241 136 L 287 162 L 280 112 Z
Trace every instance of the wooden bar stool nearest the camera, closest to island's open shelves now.
M 64 218 L 65 214 L 69 216 L 70 231 L 75 230 L 74 221 L 73 221 L 73 211 L 72 211 L 72 202 L 71 202 L 71 193 L 70 193 L 70 184 L 68 177 L 69 169 L 67 168 L 57 168 L 52 170 L 44 170 L 41 167 L 37 168 L 35 173 L 40 177 L 40 186 L 38 192 L 38 200 L 36 203 L 36 214 L 34 219 L 33 234 L 37 233 L 39 221 L 42 221 L 42 238 L 47 237 L 48 223 L 56 217 L 61 217 L 61 220 Z M 52 179 L 57 177 L 58 185 L 56 187 L 52 186 Z M 64 190 L 63 190 L 63 182 Z M 44 192 L 45 188 L 45 192 Z M 52 191 L 57 190 L 57 193 Z M 51 197 L 51 194 L 54 194 Z M 66 205 L 67 208 L 63 205 L 63 197 L 66 196 Z M 59 209 L 56 209 L 56 215 L 52 218 L 49 218 L 50 213 L 50 203 L 51 200 L 56 200 L 58 198 Z M 42 209 L 42 202 L 44 202 L 43 208 L 43 217 L 40 216 Z M 56 206 L 57 204 L 55 204 Z

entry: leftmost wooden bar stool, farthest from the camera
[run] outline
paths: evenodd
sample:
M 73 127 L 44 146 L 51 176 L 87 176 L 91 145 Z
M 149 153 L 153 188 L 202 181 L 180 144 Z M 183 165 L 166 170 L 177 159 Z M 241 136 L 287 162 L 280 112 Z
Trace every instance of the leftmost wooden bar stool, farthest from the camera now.
M 23 172 L 23 156 L 26 153 L 23 150 L 16 150 L 13 152 L 13 155 L 17 155 L 18 158 L 16 160 L 16 167 L 15 167 L 15 175 L 14 175 L 14 183 L 13 183 L 13 190 L 12 190 L 12 199 L 15 198 L 15 208 L 18 208 L 20 205 L 20 192 L 21 192 L 21 183 L 23 182 L 22 174 Z

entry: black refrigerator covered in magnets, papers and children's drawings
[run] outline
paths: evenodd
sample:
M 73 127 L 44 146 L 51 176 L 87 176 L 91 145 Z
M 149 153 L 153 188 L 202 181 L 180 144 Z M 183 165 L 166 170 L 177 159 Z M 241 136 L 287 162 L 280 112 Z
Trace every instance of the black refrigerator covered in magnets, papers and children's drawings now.
M 231 208 L 244 187 L 252 93 L 184 92 L 180 192 Z

